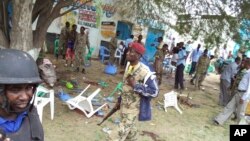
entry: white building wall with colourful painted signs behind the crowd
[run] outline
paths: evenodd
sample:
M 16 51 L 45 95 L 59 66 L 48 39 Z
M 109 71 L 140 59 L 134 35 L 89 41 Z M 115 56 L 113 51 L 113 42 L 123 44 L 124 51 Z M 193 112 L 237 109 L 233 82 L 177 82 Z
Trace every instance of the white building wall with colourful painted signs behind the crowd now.
M 136 21 L 134 19 L 123 19 L 117 14 L 116 7 L 113 6 L 113 0 L 97 0 L 95 3 L 88 4 L 78 10 L 69 12 L 68 14 L 55 19 L 50 27 L 48 28 L 48 33 L 60 34 L 61 28 L 65 25 L 66 21 L 71 24 L 77 24 L 77 31 L 80 32 L 80 27 L 84 26 L 87 28 L 89 33 L 90 47 L 95 48 L 93 52 L 93 57 L 97 57 L 99 54 L 99 48 L 101 41 L 109 42 L 111 35 L 115 35 L 118 21 L 131 22 L 133 24 L 132 34 L 135 36 L 135 40 L 141 34 L 143 36 L 143 43 L 146 45 L 146 38 L 148 27 L 165 30 L 163 39 L 166 43 L 170 44 L 169 38 L 177 36 L 175 32 L 168 30 L 162 24 L 155 21 Z M 67 9 L 63 9 L 67 10 Z M 112 25 L 102 26 L 102 22 L 114 23 Z M 35 24 L 33 24 L 34 28 Z M 105 34 L 103 30 L 106 29 Z M 107 31 L 107 29 L 109 31 Z M 105 35 L 104 35 L 105 34 Z M 178 38 L 176 38 L 178 41 Z M 120 41 L 118 42 L 120 43 Z

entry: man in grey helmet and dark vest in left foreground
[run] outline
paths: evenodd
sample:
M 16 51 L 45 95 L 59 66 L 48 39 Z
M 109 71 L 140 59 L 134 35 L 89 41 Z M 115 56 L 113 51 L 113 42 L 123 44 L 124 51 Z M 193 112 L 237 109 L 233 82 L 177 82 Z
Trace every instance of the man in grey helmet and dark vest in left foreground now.
M 19 50 L 0 51 L 0 140 L 43 141 L 33 98 L 41 82 L 33 58 Z

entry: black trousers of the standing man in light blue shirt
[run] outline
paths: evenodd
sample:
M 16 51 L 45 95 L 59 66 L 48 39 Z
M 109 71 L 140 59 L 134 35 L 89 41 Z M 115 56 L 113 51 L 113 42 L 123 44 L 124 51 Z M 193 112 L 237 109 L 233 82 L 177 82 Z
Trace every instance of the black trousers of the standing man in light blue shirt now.
M 183 84 L 184 68 L 185 68 L 185 66 L 183 64 L 178 65 L 176 68 L 175 85 L 174 85 L 175 89 L 178 89 L 179 85 L 180 85 L 181 89 L 184 89 L 184 84 Z

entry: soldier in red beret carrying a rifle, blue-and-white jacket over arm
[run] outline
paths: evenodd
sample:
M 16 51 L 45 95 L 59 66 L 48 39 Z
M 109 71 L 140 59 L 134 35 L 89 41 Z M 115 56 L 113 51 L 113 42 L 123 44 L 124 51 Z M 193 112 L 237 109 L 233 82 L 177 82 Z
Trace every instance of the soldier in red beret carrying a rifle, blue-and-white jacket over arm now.
M 108 141 L 137 141 L 136 121 L 151 120 L 151 98 L 156 97 L 159 88 L 156 76 L 143 63 L 139 62 L 145 48 L 132 43 L 127 52 L 129 61 L 124 74 L 123 93 L 121 95 L 121 122 L 117 129 L 109 134 Z

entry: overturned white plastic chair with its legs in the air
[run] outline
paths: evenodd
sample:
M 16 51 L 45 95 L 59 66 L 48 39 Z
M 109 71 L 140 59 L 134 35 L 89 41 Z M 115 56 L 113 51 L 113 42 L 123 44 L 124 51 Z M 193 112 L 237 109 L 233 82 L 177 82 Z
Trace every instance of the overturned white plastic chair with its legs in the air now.
M 90 118 L 92 115 L 94 115 L 97 111 L 99 111 L 101 108 L 103 108 L 107 103 L 104 103 L 102 106 L 98 107 L 97 109 L 94 109 L 91 100 L 99 94 L 101 91 L 100 88 L 95 90 L 90 96 L 84 97 L 82 94 L 90 87 L 88 85 L 78 96 L 71 98 L 66 101 L 68 107 L 70 110 L 74 110 L 75 108 L 81 110 L 87 118 Z

